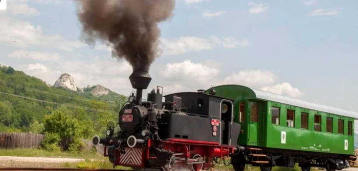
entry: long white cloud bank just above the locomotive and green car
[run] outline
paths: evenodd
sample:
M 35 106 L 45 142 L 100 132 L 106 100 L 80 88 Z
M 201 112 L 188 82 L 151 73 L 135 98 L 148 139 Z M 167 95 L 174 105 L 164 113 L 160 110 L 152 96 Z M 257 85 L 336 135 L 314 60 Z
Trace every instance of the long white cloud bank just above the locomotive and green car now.
M 211 85 L 239 84 L 294 98 L 303 95 L 300 90 L 293 88 L 287 82 L 277 83 L 278 76 L 269 71 L 242 70 L 225 78 L 218 78 L 220 69 L 221 64 L 215 61 L 193 63 L 185 60 L 167 64 L 160 75 L 164 77 L 165 89 L 168 89 L 166 93 L 207 89 Z

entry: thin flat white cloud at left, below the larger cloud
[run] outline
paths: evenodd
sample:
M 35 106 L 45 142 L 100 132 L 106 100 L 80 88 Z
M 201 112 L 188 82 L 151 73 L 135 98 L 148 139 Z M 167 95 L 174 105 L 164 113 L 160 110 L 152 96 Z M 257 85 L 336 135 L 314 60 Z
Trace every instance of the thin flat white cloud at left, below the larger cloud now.
M 17 59 L 33 59 L 39 61 L 56 61 L 60 58 L 60 55 L 58 53 L 50 53 L 46 51 L 15 50 L 9 53 L 9 57 Z

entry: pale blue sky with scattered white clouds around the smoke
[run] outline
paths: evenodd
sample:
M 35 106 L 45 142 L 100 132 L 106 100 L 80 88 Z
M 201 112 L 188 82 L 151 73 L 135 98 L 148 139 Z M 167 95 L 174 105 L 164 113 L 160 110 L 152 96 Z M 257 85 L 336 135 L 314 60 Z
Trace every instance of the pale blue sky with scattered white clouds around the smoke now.
M 7 0 L 0 11 L 0 64 L 53 84 L 128 95 L 131 67 L 108 47 L 80 40 L 73 1 Z M 357 1 L 177 0 L 160 23 L 163 54 L 151 69 L 165 93 L 242 84 L 358 112 Z

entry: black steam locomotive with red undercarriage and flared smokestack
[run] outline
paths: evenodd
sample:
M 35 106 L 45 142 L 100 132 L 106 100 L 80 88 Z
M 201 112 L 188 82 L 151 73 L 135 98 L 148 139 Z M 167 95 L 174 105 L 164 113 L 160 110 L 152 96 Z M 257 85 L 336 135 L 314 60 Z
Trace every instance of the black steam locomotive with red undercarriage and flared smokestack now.
M 106 137 L 93 138 L 114 166 L 199 171 L 244 150 L 237 145 L 241 126 L 233 122 L 232 100 L 198 90 L 166 95 L 163 102 L 157 87 L 142 101 L 149 73 L 133 70 L 129 79 L 137 91 L 119 112 L 120 131 L 110 122 Z

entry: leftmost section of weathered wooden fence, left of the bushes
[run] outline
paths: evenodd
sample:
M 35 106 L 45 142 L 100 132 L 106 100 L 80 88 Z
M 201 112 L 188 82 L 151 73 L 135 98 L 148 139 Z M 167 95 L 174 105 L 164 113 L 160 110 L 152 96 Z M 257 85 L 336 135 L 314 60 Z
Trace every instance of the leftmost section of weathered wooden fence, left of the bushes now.
M 41 134 L 0 133 L 0 148 L 39 148 L 42 139 Z

